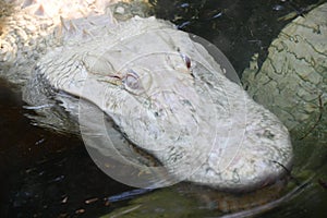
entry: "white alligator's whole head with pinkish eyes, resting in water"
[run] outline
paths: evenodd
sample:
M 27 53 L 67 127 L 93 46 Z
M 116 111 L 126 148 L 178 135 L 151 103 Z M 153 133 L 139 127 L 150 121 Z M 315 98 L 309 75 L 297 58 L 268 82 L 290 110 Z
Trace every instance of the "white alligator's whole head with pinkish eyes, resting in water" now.
M 284 174 L 287 129 L 189 34 L 154 17 L 95 26 L 45 56 L 37 83 L 97 106 L 178 181 L 247 191 Z

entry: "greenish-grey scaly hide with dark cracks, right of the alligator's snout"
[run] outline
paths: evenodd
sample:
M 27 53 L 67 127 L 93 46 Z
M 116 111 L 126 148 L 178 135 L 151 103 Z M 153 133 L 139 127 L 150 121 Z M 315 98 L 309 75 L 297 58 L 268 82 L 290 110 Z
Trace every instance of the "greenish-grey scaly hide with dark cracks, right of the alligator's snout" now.
M 261 69 L 252 64 L 243 84 L 294 138 L 327 138 L 327 3 L 296 17 L 269 47 Z

